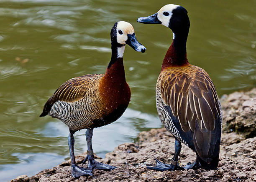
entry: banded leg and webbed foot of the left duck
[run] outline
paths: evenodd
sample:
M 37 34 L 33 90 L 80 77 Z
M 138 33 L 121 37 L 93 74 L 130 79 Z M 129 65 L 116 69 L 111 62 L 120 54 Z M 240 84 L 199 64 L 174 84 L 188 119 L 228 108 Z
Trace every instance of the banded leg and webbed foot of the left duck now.
M 94 160 L 94 154 L 93 154 L 93 150 L 92 150 L 92 132 L 93 129 L 87 129 L 85 136 L 86 136 L 86 142 L 87 142 L 87 156 L 83 161 L 83 165 L 85 164 L 85 162 L 88 160 L 88 169 L 92 170 L 92 169 L 99 169 L 99 170 L 113 170 L 116 167 L 114 166 L 110 166 L 107 164 L 102 164 L 100 162 L 97 162 L 96 160 Z

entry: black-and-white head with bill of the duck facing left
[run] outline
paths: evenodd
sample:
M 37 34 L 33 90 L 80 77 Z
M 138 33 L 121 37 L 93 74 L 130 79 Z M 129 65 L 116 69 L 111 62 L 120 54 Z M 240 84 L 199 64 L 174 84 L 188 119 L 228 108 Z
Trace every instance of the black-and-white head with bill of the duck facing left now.
M 176 33 L 189 30 L 189 17 L 187 10 L 179 5 L 165 5 L 157 13 L 148 17 L 139 17 L 138 22 L 147 24 L 162 24 L 172 29 L 174 37 Z

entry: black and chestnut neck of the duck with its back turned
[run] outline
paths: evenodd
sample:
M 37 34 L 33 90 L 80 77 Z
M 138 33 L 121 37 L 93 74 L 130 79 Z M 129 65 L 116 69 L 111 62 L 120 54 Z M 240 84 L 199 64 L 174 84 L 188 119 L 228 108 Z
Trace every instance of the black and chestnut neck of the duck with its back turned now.
M 187 60 L 186 49 L 188 31 L 179 31 L 177 33 L 173 33 L 173 35 L 174 39 L 172 45 L 166 52 L 161 71 L 167 67 L 183 66 L 189 64 Z

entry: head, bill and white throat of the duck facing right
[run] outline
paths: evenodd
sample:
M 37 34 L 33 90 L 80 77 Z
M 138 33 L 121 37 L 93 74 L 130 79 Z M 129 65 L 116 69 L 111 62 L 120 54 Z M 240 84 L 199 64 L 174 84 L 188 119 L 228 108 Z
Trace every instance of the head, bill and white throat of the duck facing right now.
M 136 39 L 133 26 L 128 22 L 116 22 L 111 30 L 110 36 L 112 48 L 117 47 L 118 57 L 123 57 L 124 47 L 126 44 L 130 45 L 138 52 L 146 51 L 146 47 L 141 45 L 141 43 Z

